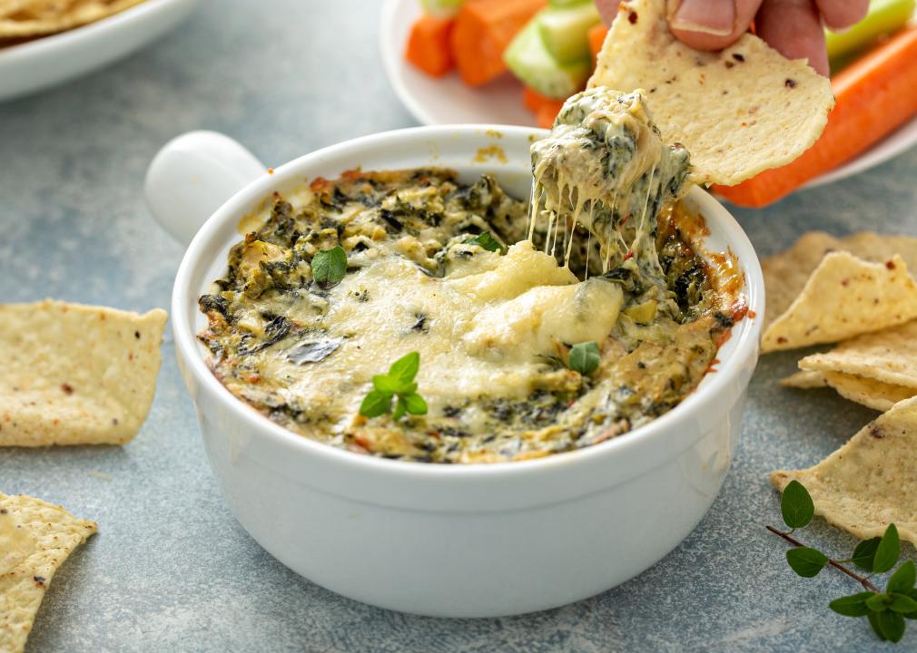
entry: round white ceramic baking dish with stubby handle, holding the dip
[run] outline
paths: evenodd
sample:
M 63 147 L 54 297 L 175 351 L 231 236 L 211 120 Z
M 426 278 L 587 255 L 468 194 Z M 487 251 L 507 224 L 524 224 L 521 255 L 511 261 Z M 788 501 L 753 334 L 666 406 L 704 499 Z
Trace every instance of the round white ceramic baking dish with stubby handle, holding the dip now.
M 326 147 L 269 173 L 226 136 L 195 132 L 173 140 L 150 165 L 152 211 L 190 241 L 175 279 L 172 328 L 210 465 L 251 537 L 311 581 L 422 615 L 543 610 L 644 571 L 678 546 L 719 492 L 757 362 L 764 288 L 746 234 L 696 188 L 686 201 L 706 219 L 706 246 L 738 256 L 749 315 L 758 317 L 735 324 L 717 371 L 678 408 L 618 439 L 518 463 L 383 460 L 282 429 L 230 394 L 205 364 L 195 339 L 205 323 L 197 298 L 225 270 L 240 217 L 271 192 L 358 166 L 432 165 L 457 169 L 465 180 L 492 172 L 525 197 L 529 145 L 545 134 L 420 127 Z M 505 161 L 481 156 L 494 145 Z

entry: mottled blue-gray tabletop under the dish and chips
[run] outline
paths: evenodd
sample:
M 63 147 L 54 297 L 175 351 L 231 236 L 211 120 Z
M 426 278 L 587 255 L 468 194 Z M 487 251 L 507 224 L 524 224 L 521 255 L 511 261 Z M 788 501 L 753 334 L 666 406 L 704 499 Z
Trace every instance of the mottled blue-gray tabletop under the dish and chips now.
M 182 248 L 152 223 L 141 183 L 157 148 L 180 132 L 224 131 L 274 165 L 414 125 L 381 70 L 377 17 L 367 0 L 213 0 L 108 70 L 0 105 L 0 301 L 168 308 Z M 766 256 L 811 229 L 917 235 L 915 204 L 917 150 L 736 214 Z M 55 576 L 32 653 L 889 648 L 862 619 L 827 609 L 856 591 L 852 582 L 830 571 L 795 577 L 783 541 L 764 529 L 779 520 L 768 472 L 815 463 L 875 415 L 828 390 L 777 386 L 795 354 L 761 361 L 723 493 L 665 560 L 579 604 L 473 621 L 358 604 L 271 559 L 217 493 L 171 338 L 163 359 L 149 419 L 126 447 L 0 451 L 0 491 L 100 524 Z M 805 538 L 838 552 L 853 543 L 820 520 Z M 917 648 L 917 632 L 902 644 Z

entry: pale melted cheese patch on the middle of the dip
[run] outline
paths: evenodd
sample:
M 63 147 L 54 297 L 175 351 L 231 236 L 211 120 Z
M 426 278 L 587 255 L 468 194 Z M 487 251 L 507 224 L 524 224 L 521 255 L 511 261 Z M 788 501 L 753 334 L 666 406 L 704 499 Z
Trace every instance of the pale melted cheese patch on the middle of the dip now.
M 526 397 L 560 343 L 601 342 L 624 301 L 606 281 L 577 283 L 527 241 L 490 265 L 435 278 L 405 258 L 381 258 L 332 288 L 329 312 L 312 318 L 341 340 L 328 364 L 296 365 L 286 348 L 252 355 L 262 375 L 285 379 L 288 400 L 346 421 L 380 373 L 380 358 L 416 351 L 416 381 L 436 411 L 457 396 Z

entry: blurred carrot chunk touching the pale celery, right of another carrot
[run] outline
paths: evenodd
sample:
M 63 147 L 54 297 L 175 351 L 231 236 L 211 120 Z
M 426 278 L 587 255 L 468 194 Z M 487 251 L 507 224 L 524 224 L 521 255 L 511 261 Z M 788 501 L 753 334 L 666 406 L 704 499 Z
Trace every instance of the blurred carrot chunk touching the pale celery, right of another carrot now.
M 503 50 L 545 5 L 545 0 L 468 0 L 452 30 L 452 56 L 470 86 L 490 82 L 506 70 Z

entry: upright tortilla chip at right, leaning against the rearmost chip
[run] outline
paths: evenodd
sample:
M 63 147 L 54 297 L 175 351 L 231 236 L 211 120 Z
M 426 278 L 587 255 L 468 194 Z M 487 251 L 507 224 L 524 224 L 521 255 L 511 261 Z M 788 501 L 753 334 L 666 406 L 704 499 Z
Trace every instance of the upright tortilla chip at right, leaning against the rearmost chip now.
M 832 252 L 761 339 L 762 353 L 836 343 L 917 318 L 917 284 L 900 256 L 869 263 Z

